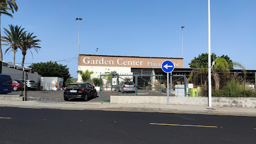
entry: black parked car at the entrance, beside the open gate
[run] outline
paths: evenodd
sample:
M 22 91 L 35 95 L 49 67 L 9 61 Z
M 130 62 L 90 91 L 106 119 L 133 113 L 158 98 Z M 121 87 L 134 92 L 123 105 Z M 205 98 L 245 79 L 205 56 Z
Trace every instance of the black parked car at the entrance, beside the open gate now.
M 64 91 L 64 100 L 81 98 L 87 101 L 89 97 L 97 97 L 97 91 L 90 83 L 70 83 Z

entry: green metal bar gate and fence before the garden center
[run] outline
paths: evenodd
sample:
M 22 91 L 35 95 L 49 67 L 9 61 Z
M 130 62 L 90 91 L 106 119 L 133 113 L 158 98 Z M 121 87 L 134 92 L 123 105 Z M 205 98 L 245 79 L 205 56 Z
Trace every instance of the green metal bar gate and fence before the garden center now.
M 116 85 L 113 85 L 113 79 Z M 134 91 L 122 91 L 121 82 L 134 83 Z M 100 75 L 99 98 L 102 102 L 110 102 L 111 95 L 120 96 L 166 96 L 166 76 L 162 74 L 117 74 L 108 72 Z M 186 97 L 188 95 L 186 75 L 171 75 L 170 96 Z

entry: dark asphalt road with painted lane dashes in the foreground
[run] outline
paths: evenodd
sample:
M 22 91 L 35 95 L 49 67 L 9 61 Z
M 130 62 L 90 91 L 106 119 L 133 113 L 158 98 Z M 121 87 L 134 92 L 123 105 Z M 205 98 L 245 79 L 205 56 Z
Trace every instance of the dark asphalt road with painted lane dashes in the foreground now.
M 256 143 L 256 117 L 0 107 L 0 143 Z

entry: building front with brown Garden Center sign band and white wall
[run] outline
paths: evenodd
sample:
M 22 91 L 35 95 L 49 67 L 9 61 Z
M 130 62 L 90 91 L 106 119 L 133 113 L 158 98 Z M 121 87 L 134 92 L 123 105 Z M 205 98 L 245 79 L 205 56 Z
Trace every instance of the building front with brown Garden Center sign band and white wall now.
M 162 62 L 165 60 L 174 63 L 175 71 L 183 69 L 183 58 L 82 54 L 79 55 L 78 70 L 93 71 L 91 79 L 111 71 L 116 71 L 118 74 L 166 75 L 161 68 Z M 156 79 L 156 77 L 151 77 L 151 79 Z M 81 76 L 78 76 L 78 82 L 82 82 Z

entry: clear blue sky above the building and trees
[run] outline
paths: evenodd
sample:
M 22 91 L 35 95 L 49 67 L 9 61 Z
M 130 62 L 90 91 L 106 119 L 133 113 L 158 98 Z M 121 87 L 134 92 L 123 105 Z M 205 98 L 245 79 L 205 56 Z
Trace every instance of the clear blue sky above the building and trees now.
M 22 25 L 41 40 L 37 54 L 27 53 L 25 63 L 59 61 L 78 56 L 78 21 L 81 53 L 181 58 L 183 65 L 208 52 L 207 0 L 16 0 L 13 19 L 1 17 L 1 34 L 9 24 Z M 211 0 L 212 52 L 228 55 L 246 69 L 256 69 L 256 1 Z M 3 46 L 5 52 L 7 47 Z M 4 55 L 13 62 L 13 53 Z M 20 50 L 16 63 L 22 62 Z M 61 61 L 78 77 L 77 59 Z M 25 64 L 29 66 L 30 64 Z

